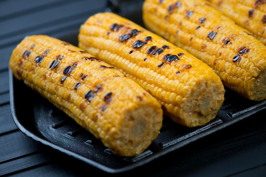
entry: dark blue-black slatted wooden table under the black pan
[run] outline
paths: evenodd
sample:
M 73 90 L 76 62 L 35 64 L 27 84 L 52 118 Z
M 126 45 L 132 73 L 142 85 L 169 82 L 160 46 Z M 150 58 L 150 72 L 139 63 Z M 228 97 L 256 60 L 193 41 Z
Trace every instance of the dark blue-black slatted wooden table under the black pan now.
M 116 1 L 120 1 L 120 11 Z M 10 112 L 8 85 L 8 61 L 16 44 L 26 35 L 60 37 L 71 33 L 97 12 L 130 12 L 126 3 L 121 0 L 0 0 L 0 176 L 81 177 L 95 173 L 123 177 L 266 177 L 266 111 L 120 174 L 107 174 L 42 145 L 16 127 Z M 141 3 L 136 0 L 131 5 L 141 8 Z

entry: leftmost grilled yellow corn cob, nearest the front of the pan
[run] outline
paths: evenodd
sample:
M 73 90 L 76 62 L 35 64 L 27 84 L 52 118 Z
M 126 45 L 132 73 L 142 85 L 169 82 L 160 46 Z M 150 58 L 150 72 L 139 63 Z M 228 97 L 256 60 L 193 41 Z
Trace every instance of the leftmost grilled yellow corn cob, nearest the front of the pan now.
M 14 76 L 38 91 L 117 155 L 136 156 L 158 136 L 162 110 L 146 90 L 69 43 L 46 35 L 13 50 Z

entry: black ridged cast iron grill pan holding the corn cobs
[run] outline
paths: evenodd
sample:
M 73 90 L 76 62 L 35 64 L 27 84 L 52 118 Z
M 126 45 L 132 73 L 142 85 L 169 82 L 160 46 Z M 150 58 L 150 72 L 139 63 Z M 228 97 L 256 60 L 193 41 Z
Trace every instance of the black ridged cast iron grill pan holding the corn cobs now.
M 131 20 L 142 25 L 140 10 L 128 11 L 122 15 L 130 19 L 133 14 Z M 78 31 L 60 39 L 77 46 L 77 34 Z M 132 170 L 266 109 L 266 100 L 250 101 L 226 88 L 223 106 L 217 117 L 206 125 L 186 128 L 165 116 L 159 136 L 142 154 L 137 157 L 120 157 L 64 112 L 16 80 L 10 70 L 9 88 L 12 117 L 24 134 L 109 173 Z

